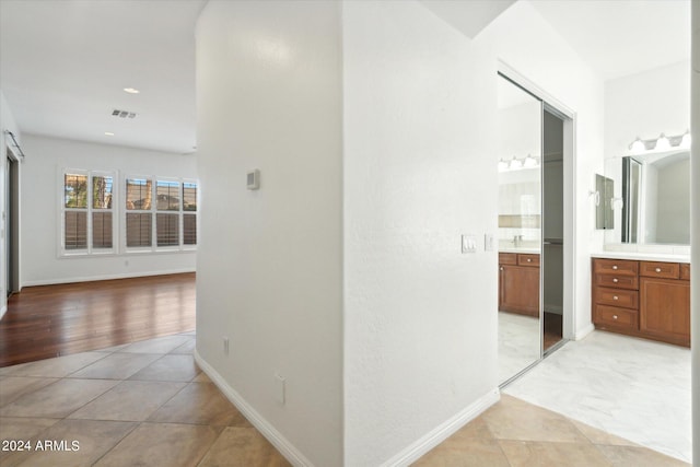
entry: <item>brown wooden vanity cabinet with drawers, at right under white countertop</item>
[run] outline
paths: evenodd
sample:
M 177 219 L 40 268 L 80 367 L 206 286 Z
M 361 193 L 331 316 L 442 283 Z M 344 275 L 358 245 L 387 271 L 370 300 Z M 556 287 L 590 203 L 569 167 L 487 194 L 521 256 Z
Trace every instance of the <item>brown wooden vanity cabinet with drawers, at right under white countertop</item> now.
M 690 346 L 690 267 L 593 259 L 596 328 Z

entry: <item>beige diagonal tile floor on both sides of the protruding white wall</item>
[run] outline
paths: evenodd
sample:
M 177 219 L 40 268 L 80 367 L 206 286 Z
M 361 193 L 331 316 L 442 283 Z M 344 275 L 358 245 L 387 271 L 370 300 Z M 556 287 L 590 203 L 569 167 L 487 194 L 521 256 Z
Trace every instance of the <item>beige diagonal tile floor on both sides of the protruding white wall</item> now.
M 80 447 L 0 451 L 0 465 L 289 466 L 196 366 L 194 343 L 189 332 L 0 369 L 0 440 Z M 687 464 L 504 395 L 416 465 Z

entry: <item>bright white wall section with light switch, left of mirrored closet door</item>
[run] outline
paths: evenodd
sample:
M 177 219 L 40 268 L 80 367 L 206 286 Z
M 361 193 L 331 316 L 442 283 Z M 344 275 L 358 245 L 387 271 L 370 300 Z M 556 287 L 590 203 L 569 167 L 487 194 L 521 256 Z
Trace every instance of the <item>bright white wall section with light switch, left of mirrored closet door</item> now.
M 412 1 L 345 2 L 343 58 L 345 465 L 401 465 L 498 385 L 495 60 Z

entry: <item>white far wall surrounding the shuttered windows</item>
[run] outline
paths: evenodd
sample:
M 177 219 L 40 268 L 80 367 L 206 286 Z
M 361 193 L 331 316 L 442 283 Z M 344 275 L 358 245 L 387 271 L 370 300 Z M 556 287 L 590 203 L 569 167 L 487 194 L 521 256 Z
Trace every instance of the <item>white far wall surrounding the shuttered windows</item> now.
M 194 271 L 194 252 L 59 257 L 60 171 L 119 171 L 124 175 L 197 178 L 195 155 L 23 135 L 20 222 L 22 285 Z M 116 211 L 115 215 L 118 215 Z

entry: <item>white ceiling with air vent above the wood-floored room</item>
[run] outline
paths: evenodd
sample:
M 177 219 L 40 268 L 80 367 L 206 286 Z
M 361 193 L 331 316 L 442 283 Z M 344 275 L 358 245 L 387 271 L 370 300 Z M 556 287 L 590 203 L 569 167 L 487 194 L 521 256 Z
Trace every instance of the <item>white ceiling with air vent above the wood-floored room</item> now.
M 194 30 L 205 2 L 0 0 L 0 86 L 20 130 L 192 152 Z

